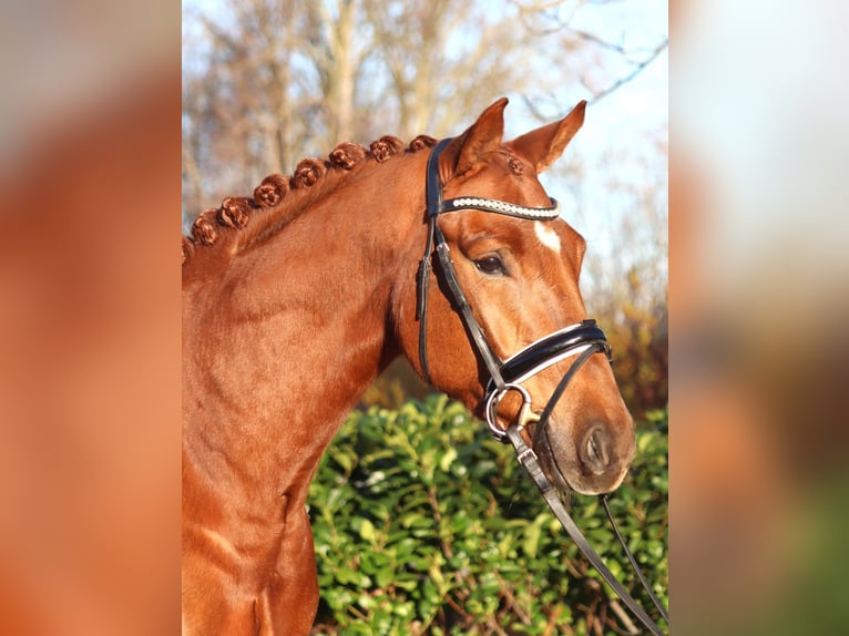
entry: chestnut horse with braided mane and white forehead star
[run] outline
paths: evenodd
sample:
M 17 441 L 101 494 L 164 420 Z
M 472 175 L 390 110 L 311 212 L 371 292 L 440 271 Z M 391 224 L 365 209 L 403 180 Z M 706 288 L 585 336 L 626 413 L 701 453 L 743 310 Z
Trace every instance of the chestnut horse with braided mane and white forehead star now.
M 341 144 L 291 177 L 267 177 L 253 197 L 225 198 L 183 238 L 184 634 L 309 632 L 318 588 L 307 489 L 346 413 L 396 357 L 484 417 L 488 365 L 440 265 L 420 266 L 430 264 L 431 155 L 429 181 L 454 206 L 438 230 L 492 353 L 507 359 L 584 320 L 585 243 L 556 218 L 538 174 L 581 127 L 585 104 L 502 143 L 505 105 L 438 155 L 428 136 L 406 148 L 391 136 L 369 150 Z M 523 381 L 534 413 L 565 365 Z M 499 425 L 518 416 L 518 398 L 497 407 Z M 522 434 L 559 489 L 618 486 L 633 422 L 603 356 L 544 423 L 533 419 Z

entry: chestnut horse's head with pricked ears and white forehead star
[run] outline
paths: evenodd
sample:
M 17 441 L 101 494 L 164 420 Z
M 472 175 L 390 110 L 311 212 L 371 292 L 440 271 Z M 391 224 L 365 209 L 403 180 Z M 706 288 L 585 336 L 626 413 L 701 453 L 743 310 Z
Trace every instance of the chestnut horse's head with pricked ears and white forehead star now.
M 492 376 L 498 375 L 493 368 L 546 335 L 586 319 L 579 288 L 585 240 L 558 215 L 538 178 L 581 127 L 585 103 L 561 121 L 502 142 L 505 105 L 505 99 L 499 100 L 463 134 L 434 150 L 439 152 L 431 158 L 429 179 L 438 183 L 428 187 L 439 191 L 439 202 L 434 204 L 436 195 L 429 192 L 429 207 L 442 205 L 442 199 L 449 206 L 429 220 L 450 263 L 426 248 L 418 289 L 406 286 L 406 297 L 395 309 L 399 341 L 412 366 L 481 418 L 487 417 Z M 460 301 L 447 267 L 454 271 Z M 411 297 L 415 294 L 418 301 Z M 459 307 L 463 301 L 472 315 L 469 319 Z M 470 321 L 479 326 L 483 346 Z M 487 348 L 494 362 L 487 361 Z M 582 359 L 562 399 L 538 421 L 583 349 L 542 365 L 539 372 L 516 382 L 521 389 L 502 391 L 503 399 L 490 416 L 507 429 L 525 409 L 523 435 L 549 480 L 561 490 L 597 494 L 620 485 L 634 457 L 633 420 L 607 358 Z

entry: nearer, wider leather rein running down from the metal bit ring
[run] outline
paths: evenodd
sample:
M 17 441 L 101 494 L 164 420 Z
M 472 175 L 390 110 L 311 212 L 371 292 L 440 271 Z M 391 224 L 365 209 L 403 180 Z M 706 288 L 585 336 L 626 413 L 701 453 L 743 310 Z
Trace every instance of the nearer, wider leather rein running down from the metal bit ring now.
M 637 604 L 637 602 L 634 601 L 634 598 L 631 596 L 631 594 L 627 593 L 622 584 L 616 581 L 616 577 L 604 564 L 604 561 L 602 561 L 602 557 L 599 556 L 599 553 L 595 552 L 592 545 L 587 543 L 583 533 L 572 520 L 569 512 L 566 511 L 566 507 L 563 505 L 563 502 L 560 500 L 558 491 L 554 489 L 554 486 L 551 485 L 551 482 L 542 472 L 542 466 L 540 465 L 539 459 L 536 458 L 536 453 L 533 452 L 531 447 L 524 443 L 519 427 L 510 427 L 507 430 L 507 434 L 510 438 L 510 442 L 513 444 L 513 448 L 515 449 L 516 459 L 522 464 L 524 470 L 528 471 L 528 474 L 531 475 L 531 479 L 536 484 L 536 488 L 540 489 L 542 496 L 545 499 L 545 503 L 549 504 L 551 512 L 553 512 L 554 516 L 558 517 L 569 536 L 572 538 L 572 541 L 575 542 L 575 545 L 577 545 L 581 552 L 584 553 L 584 556 L 586 556 L 586 558 L 590 561 L 590 564 L 599 572 L 599 574 L 602 575 L 602 578 L 607 582 L 607 584 L 613 588 L 622 602 L 628 607 L 628 609 L 631 609 L 631 612 L 633 612 L 634 616 L 640 618 L 641 623 L 643 623 L 643 625 L 645 625 L 652 634 L 655 636 L 665 636 L 661 628 L 655 624 L 655 622 L 652 620 L 648 614 L 646 614 L 645 611 Z

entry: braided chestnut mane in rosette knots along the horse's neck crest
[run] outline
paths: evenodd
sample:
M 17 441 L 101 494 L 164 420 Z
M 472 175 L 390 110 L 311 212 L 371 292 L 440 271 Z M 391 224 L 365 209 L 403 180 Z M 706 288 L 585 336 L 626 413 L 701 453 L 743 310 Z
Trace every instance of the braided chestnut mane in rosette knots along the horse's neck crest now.
M 306 212 L 319 197 L 333 192 L 341 179 L 371 163 L 383 163 L 392 156 L 418 152 L 436 145 L 429 135 L 413 139 L 407 148 L 398 137 L 385 135 L 368 148 L 344 142 L 327 160 L 305 158 L 291 176 L 273 174 L 254 189 L 253 197 L 227 196 L 221 206 L 197 215 L 190 236 L 182 237 L 183 265 L 200 249 L 225 246 L 236 254 L 274 236 L 289 222 Z

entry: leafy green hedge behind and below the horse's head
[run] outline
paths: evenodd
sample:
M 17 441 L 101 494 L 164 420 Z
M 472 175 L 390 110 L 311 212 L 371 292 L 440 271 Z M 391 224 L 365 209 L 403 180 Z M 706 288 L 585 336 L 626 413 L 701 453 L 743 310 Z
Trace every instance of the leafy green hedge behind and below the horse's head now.
M 666 603 L 667 414 L 637 427 L 611 507 Z M 622 633 L 622 607 L 587 566 L 512 447 L 444 396 L 351 413 L 310 486 L 321 589 L 314 634 Z M 571 513 L 648 611 L 595 497 Z M 622 612 L 627 612 L 622 607 Z M 653 608 L 649 614 L 655 615 Z

